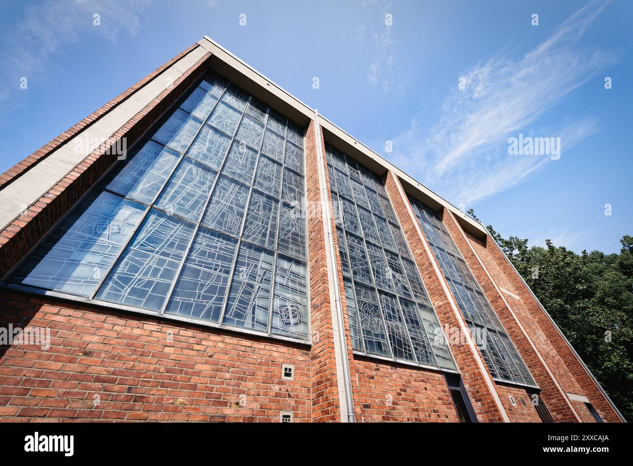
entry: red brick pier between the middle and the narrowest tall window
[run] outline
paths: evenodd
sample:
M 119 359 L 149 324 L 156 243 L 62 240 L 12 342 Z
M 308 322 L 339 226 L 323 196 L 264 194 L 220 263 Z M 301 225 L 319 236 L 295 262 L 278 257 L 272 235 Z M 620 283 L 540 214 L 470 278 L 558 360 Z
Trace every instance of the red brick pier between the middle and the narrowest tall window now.
M 430 249 L 425 248 L 426 239 L 423 237 L 421 231 L 422 236 L 418 233 L 418 229 L 414 223 L 417 220 L 411 217 L 410 207 L 408 205 L 409 201 L 403 196 L 404 191 L 401 191 L 399 183 L 397 176 L 393 172 L 387 174 L 387 192 L 391 197 L 396 215 L 403 228 L 404 237 L 411 247 L 413 259 L 417 263 L 424 285 L 427 287 L 430 300 L 436 309 L 439 322 L 442 327 L 448 325 L 449 328 L 460 328 L 453 306 L 451 306 L 451 302 L 449 301 L 452 300 L 454 303 L 453 295 L 444 281 L 444 276 L 437 276 L 437 273 L 434 271 L 431 262 L 432 259 L 429 255 Z M 448 295 L 445 292 L 445 288 L 442 287 L 442 282 L 444 282 L 446 289 L 448 289 Z M 461 311 L 458 312 L 461 313 Z M 475 358 L 481 358 L 479 350 L 475 348 L 477 353 L 473 353 L 472 348 L 462 341 L 452 342 L 450 346 L 456 364 L 461 371 L 461 378 L 470 397 L 473 409 L 477 414 L 477 418 L 484 422 L 503 421 L 501 411 L 494 401 L 493 392 L 486 383 L 479 365 L 477 365 Z M 488 377 L 491 378 L 487 368 L 486 372 Z

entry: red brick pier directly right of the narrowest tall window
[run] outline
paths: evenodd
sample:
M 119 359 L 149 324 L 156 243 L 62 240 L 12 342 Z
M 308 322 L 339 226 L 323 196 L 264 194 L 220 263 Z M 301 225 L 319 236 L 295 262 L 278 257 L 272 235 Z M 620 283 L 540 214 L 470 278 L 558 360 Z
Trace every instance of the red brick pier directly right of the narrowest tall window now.
M 515 347 L 517 347 L 519 355 L 525 362 L 530 373 L 532 373 L 536 384 L 541 389 L 542 399 L 548 406 L 552 417 L 557 422 L 579 422 L 579 418 L 575 411 L 573 411 L 567 396 L 565 396 L 560 386 L 556 384 L 557 380 L 554 379 L 556 376 L 553 377 L 553 373 L 556 373 L 556 375 L 563 374 L 564 377 L 567 372 L 565 365 L 560 360 L 552 360 L 551 362 L 554 365 L 549 367 L 548 372 L 543 363 L 544 359 L 539 358 L 540 351 L 537 353 L 538 349 L 535 351 L 536 346 L 530 344 L 530 340 L 521 329 L 519 321 L 513 315 L 512 311 L 514 309 L 510 308 L 508 302 L 505 301 L 505 298 L 494 286 L 494 283 L 486 273 L 486 269 L 482 266 L 483 261 L 479 261 L 479 256 L 476 254 L 474 246 L 468 242 L 461 226 L 456 222 L 453 214 L 451 214 L 448 209 L 444 209 L 442 221 L 468 264 L 468 268 L 470 268 L 473 275 L 475 275 L 475 279 L 490 302 L 492 309 L 494 309 L 499 320 L 501 320 L 508 336 Z M 521 324 L 523 324 L 523 322 L 521 322 Z M 530 330 L 536 330 L 535 327 L 534 322 L 525 321 L 523 328 L 525 328 L 526 332 L 529 332 Z M 543 347 L 548 347 L 547 342 L 543 342 Z M 568 382 L 572 381 L 568 380 Z M 573 387 L 579 389 L 576 384 L 573 384 Z

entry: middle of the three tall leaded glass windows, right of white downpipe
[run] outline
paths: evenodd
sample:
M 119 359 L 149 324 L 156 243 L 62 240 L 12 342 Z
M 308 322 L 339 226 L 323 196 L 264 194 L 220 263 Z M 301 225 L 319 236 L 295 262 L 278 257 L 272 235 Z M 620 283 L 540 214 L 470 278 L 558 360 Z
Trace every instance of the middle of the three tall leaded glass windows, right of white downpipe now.
M 325 146 L 353 349 L 455 370 L 380 176 Z

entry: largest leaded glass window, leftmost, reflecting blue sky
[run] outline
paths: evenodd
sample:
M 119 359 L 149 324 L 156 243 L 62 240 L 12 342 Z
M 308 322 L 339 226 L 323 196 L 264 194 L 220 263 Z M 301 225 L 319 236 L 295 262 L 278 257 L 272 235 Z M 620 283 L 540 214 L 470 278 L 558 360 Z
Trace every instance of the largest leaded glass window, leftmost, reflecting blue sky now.
M 209 74 L 9 280 L 306 340 L 303 133 Z

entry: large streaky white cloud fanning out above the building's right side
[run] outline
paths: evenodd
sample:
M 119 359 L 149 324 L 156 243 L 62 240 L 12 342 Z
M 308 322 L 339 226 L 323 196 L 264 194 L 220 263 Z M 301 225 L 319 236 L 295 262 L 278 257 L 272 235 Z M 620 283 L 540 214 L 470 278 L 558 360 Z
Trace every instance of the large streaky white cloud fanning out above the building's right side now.
M 465 89 L 446 97 L 437 124 L 417 119 L 394 139 L 391 159 L 454 204 L 470 204 L 520 183 L 548 164 L 546 156 L 508 155 L 508 138 L 560 137 L 562 157 L 599 129 L 582 117 L 566 126 L 532 129 L 566 94 L 617 60 L 615 53 L 580 48 L 584 30 L 605 8 L 594 2 L 573 13 L 546 41 L 518 60 L 481 61 L 463 73 Z

